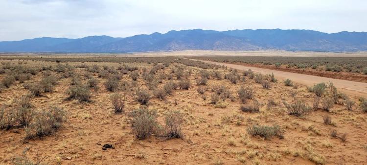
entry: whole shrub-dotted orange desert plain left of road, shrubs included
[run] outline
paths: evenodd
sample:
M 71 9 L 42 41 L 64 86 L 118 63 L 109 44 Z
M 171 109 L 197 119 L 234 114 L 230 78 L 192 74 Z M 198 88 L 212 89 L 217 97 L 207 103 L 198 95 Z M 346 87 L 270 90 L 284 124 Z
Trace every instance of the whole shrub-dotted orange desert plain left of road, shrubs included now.
M 367 164 L 340 80 L 135 55 L 1 56 L 0 164 Z

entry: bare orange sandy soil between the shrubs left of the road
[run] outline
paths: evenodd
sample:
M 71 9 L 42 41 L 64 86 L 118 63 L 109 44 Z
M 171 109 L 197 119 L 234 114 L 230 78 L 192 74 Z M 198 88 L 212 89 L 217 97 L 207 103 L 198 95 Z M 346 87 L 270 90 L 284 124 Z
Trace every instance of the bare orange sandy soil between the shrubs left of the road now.
M 56 62 L 28 62 L 28 65 L 55 65 Z M 78 62 L 69 62 L 70 65 L 79 65 Z M 118 63 L 85 62 L 92 66 L 108 65 L 117 67 Z M 142 67 L 150 68 L 153 64 L 129 63 L 139 68 L 140 77 L 138 84 L 145 87 L 141 77 Z M 176 68 L 171 63 L 157 74 L 171 74 L 171 69 Z M 243 66 L 241 66 L 242 69 Z M 46 109 L 49 105 L 57 105 L 64 108 L 69 116 L 67 122 L 54 134 L 42 139 L 30 140 L 23 143 L 24 128 L 14 127 L 10 130 L 0 130 L 0 164 L 12 164 L 15 158 L 27 150 L 26 157 L 36 161 L 36 152 L 46 159 L 43 163 L 50 165 L 122 165 L 122 164 L 205 164 L 205 165 L 313 165 L 320 162 L 327 165 L 335 164 L 367 164 L 367 113 L 359 109 L 357 97 L 350 96 L 355 101 L 353 111 L 348 111 L 343 105 L 343 99 L 335 104 L 330 112 L 318 109 L 304 118 L 289 115 L 282 100 L 291 103 L 294 98 L 290 92 L 296 92 L 295 98 L 305 100 L 312 106 L 313 93 L 307 91 L 306 86 L 298 84 L 298 88 L 284 86 L 283 82 L 272 82 L 272 88 L 264 89 L 261 84 L 246 77 L 245 82 L 233 84 L 229 80 L 209 79 L 208 91 L 205 95 L 196 90 L 195 77 L 202 70 L 198 67 L 185 67 L 192 69 L 188 80 L 191 82 L 189 90 L 177 89 L 166 100 L 151 99 L 150 109 L 157 109 L 160 117 L 158 121 L 164 126 L 164 113 L 171 110 L 179 110 L 184 113 L 183 139 L 166 139 L 150 136 L 146 140 L 137 140 L 132 133 L 131 124 L 128 122 L 128 113 L 140 105 L 129 97 L 126 102 L 125 112 L 115 114 L 109 100 L 112 92 L 108 92 L 103 86 L 105 78 L 93 77 L 100 83 L 100 90 L 93 92 L 92 102 L 79 103 L 75 100 L 66 100 L 65 91 L 70 86 L 70 78 L 59 80 L 53 92 L 43 93 L 42 97 L 35 97 L 32 104 L 35 109 Z M 230 71 L 219 69 L 206 69 L 214 72 L 220 71 L 228 74 Z M 255 68 L 253 69 L 255 70 Z M 83 76 L 87 72 L 84 68 L 75 69 Z M 263 72 L 266 73 L 266 72 Z M 282 73 L 274 72 L 276 77 L 282 77 Z M 241 73 L 238 73 L 241 74 Z M 283 73 L 291 74 L 291 73 Z M 302 75 L 308 76 L 308 75 Z M 2 80 L 4 75 L 0 75 Z M 26 82 L 38 82 L 43 77 L 39 73 Z M 289 78 L 289 77 L 287 77 Z M 302 77 L 300 77 L 302 78 Z M 305 82 L 311 79 L 305 77 Z M 178 82 L 176 78 L 173 80 Z M 294 80 L 296 82 L 296 79 Z M 129 75 L 123 75 L 120 82 L 131 82 Z M 168 80 L 163 80 L 161 87 Z M 320 81 L 318 81 L 320 82 Z M 303 83 L 303 82 L 302 82 Z M 337 81 L 334 82 L 335 84 Z M 217 85 L 223 85 L 231 91 L 234 100 L 226 99 L 228 105 L 224 108 L 215 107 L 210 103 L 210 89 Z M 258 113 L 242 112 L 236 91 L 241 85 L 250 85 L 255 93 L 254 99 L 262 103 Z M 337 85 L 340 88 L 340 86 Z M 344 90 L 347 92 L 347 90 Z M 10 88 L 0 93 L 0 106 L 10 105 L 14 107 L 14 100 L 26 94 L 23 84 L 16 82 Z M 150 91 L 151 92 L 151 91 Z M 206 96 L 206 100 L 203 99 Z M 328 96 L 324 96 L 328 97 Z M 274 99 L 276 105 L 268 106 L 268 101 Z M 252 105 L 248 100 L 245 105 Z M 323 123 L 322 116 L 330 115 L 335 125 Z M 271 137 L 264 140 L 261 137 L 252 137 L 247 129 L 253 124 L 273 125 L 278 124 L 284 134 L 284 139 Z M 330 136 L 330 132 L 336 130 L 338 135 L 346 134 L 342 141 Z M 115 149 L 102 150 L 98 144 L 114 144 Z

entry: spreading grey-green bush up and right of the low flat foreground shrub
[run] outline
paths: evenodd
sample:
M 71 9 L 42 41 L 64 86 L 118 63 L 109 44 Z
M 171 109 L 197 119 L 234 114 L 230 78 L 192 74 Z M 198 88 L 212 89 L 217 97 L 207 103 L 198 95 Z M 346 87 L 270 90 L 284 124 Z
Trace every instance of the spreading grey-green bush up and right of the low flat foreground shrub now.
M 296 99 L 294 103 L 287 103 L 283 101 L 283 104 L 288 109 L 290 115 L 302 117 L 310 113 L 311 107 L 307 106 L 304 101 Z

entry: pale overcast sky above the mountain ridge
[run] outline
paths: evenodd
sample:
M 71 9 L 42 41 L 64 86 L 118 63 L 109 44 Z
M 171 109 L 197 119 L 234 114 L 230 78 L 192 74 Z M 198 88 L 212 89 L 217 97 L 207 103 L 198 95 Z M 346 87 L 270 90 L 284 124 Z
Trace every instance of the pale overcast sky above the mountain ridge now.
M 0 41 L 170 30 L 367 31 L 367 0 L 0 0 Z

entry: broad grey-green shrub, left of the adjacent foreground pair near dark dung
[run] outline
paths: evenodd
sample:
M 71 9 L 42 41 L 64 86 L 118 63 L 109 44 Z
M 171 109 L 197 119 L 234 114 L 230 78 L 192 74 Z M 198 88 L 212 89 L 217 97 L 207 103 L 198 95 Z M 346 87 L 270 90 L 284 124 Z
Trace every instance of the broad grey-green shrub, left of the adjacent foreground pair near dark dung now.
M 139 140 L 144 140 L 156 133 L 158 128 L 157 111 L 147 109 L 137 109 L 131 113 L 133 133 Z

